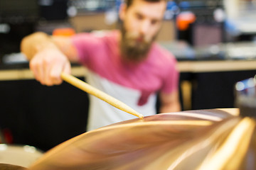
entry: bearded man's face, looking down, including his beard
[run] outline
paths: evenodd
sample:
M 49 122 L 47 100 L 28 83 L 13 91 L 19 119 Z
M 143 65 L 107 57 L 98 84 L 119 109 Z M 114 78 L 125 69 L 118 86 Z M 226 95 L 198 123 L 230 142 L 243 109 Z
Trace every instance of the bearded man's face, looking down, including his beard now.
M 121 50 L 124 59 L 141 61 L 156 38 L 166 9 L 166 2 L 134 0 L 120 11 L 122 25 Z

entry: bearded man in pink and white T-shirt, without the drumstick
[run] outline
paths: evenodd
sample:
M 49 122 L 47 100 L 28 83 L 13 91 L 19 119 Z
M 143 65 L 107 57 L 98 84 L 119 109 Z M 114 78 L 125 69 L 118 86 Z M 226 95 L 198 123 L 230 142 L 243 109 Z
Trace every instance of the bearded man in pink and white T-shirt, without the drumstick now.
M 23 38 L 21 51 L 41 84 L 61 84 L 70 62 L 87 67 L 87 82 L 126 103 L 135 111 L 156 114 L 180 111 L 176 59 L 156 44 L 166 1 L 128 0 L 119 10 L 121 30 L 103 36 L 78 33 L 70 38 L 33 33 Z M 90 96 L 87 131 L 134 118 Z

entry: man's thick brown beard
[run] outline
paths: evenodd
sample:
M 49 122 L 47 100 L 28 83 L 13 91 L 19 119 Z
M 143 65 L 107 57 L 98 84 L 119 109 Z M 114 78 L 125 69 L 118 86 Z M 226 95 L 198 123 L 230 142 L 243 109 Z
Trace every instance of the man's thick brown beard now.
M 122 24 L 121 32 L 120 48 L 123 59 L 129 62 L 141 62 L 144 60 L 152 42 L 156 39 L 156 35 L 153 38 L 148 38 L 145 35 L 139 35 L 139 33 L 129 33 L 125 30 L 124 24 Z

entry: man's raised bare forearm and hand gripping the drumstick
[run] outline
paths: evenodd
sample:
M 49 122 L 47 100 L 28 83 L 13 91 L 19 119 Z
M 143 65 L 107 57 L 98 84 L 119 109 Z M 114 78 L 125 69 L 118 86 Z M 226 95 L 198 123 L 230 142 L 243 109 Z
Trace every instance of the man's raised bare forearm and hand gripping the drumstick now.
M 30 60 L 35 78 L 52 86 L 61 84 L 61 72 L 70 73 L 70 61 L 78 61 L 78 53 L 70 38 L 33 33 L 21 41 L 21 52 Z

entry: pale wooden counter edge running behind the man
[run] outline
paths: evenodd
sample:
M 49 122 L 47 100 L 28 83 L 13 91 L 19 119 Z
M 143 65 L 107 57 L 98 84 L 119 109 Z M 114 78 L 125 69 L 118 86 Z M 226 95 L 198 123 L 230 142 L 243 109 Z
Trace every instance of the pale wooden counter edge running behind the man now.
M 179 72 L 232 72 L 255 70 L 256 60 L 221 60 L 221 61 L 181 61 L 178 62 Z M 75 77 L 84 77 L 86 69 L 82 66 L 72 67 Z M 0 70 L 0 81 L 34 79 L 29 69 Z

